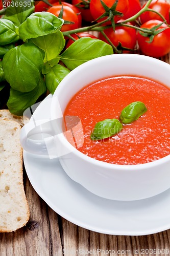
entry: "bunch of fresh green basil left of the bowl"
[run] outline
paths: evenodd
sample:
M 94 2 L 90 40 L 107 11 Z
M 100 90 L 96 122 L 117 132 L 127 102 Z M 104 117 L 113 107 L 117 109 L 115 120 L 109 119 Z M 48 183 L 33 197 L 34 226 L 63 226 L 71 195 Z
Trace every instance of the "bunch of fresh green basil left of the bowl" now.
M 113 54 L 110 45 L 92 38 L 80 38 L 64 51 L 64 20 L 48 12 L 34 13 L 34 2 L 27 2 L 28 6 L 7 7 L 0 19 L 0 93 L 8 82 L 7 106 L 15 115 L 22 115 L 46 90 L 54 93 L 82 63 Z

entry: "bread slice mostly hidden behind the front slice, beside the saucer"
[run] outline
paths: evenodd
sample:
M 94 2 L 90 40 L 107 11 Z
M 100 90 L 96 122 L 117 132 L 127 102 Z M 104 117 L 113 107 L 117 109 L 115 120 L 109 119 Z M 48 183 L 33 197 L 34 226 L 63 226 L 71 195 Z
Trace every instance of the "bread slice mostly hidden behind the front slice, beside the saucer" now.
M 21 127 L 29 122 L 29 118 L 26 116 L 16 116 L 11 114 L 9 110 L 0 110 L 0 119 L 9 119 L 18 122 Z

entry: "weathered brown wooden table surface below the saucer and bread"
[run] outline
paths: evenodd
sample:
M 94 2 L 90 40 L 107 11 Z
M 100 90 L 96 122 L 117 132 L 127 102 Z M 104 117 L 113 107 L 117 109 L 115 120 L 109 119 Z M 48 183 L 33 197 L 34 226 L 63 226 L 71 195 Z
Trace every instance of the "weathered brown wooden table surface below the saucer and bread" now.
M 161 60 L 170 64 L 170 54 Z M 158 249 L 170 251 L 170 229 L 148 236 L 112 236 L 81 228 L 59 216 L 37 195 L 25 171 L 23 179 L 30 220 L 15 232 L 0 233 L 0 256 L 170 255 L 163 250 L 158 253 Z M 97 249 L 103 253 L 96 254 Z M 134 253 L 134 249 L 138 251 Z M 157 249 L 157 253 L 142 249 Z

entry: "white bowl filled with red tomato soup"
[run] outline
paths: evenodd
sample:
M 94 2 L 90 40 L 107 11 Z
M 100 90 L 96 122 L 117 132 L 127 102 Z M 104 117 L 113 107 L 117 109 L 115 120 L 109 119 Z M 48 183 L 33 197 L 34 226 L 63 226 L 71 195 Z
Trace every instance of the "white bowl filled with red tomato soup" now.
M 67 152 L 60 162 L 71 179 L 112 200 L 149 198 L 170 187 L 169 72 L 161 60 L 117 54 L 90 60 L 61 81 L 51 116 L 58 118 L 59 101 L 64 117 L 80 118 L 69 131 L 72 142 L 62 133 L 57 149 Z M 110 138 L 90 139 L 96 122 L 119 119 L 134 101 L 142 101 L 147 112 Z

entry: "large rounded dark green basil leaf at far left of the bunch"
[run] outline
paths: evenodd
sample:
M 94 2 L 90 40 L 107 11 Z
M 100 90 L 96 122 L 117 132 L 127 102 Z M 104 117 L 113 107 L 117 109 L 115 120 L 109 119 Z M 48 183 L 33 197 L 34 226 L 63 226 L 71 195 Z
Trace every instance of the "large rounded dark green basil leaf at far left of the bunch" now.
M 44 53 L 33 44 L 23 44 L 7 52 L 3 58 L 5 79 L 20 92 L 32 91 L 41 76 Z

